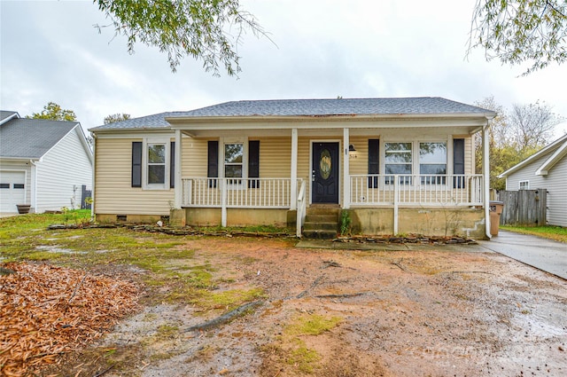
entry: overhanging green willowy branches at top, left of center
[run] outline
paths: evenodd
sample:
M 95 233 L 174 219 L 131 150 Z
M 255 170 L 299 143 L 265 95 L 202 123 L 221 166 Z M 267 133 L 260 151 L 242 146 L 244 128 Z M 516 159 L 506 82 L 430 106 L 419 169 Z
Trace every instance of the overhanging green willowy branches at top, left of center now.
M 237 46 L 247 30 L 265 35 L 239 0 L 93 0 L 111 20 L 115 35 L 128 38 L 128 51 L 136 42 L 167 53 L 175 72 L 187 56 L 200 59 L 206 72 L 240 72 Z M 101 27 L 98 30 L 101 30 Z

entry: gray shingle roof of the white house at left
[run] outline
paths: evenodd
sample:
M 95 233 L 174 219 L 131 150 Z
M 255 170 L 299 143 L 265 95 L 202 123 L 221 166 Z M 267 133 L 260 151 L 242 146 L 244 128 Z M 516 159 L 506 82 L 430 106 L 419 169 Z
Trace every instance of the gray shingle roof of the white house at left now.
M 0 126 L 0 157 L 39 159 L 78 122 L 19 118 Z

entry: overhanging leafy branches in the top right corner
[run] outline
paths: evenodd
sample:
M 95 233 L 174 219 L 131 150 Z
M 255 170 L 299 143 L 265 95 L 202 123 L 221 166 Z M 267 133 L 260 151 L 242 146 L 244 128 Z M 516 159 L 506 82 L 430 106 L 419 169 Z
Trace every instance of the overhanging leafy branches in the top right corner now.
M 567 1 L 477 0 L 469 52 L 485 49 L 486 59 L 527 63 L 524 75 L 567 59 Z

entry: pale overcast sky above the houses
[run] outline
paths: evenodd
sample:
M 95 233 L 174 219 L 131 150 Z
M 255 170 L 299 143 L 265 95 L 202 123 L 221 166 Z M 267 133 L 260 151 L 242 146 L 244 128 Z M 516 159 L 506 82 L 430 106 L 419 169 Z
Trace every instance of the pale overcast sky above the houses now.
M 3 110 L 21 116 L 49 101 L 84 129 L 106 115 L 192 110 L 240 99 L 444 97 L 506 108 L 545 101 L 567 116 L 567 65 L 521 77 L 524 67 L 465 59 L 474 0 L 241 0 L 270 34 L 246 35 L 239 78 L 214 77 L 184 59 L 173 74 L 157 49 L 113 38 L 92 1 L 5 1 L 1 12 Z M 567 123 L 556 136 L 567 132 Z

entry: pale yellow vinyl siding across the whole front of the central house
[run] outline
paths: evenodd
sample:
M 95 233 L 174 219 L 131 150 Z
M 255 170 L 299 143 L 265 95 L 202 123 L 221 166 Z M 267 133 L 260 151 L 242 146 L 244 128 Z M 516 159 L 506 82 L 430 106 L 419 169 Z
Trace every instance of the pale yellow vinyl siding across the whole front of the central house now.
M 414 132 L 414 133 L 412 133 Z M 389 140 L 400 135 L 413 141 L 416 130 L 384 130 Z M 349 160 L 350 174 L 368 174 L 368 140 L 382 136 L 351 135 L 350 144 L 356 148 L 356 158 Z M 432 135 L 435 140 L 447 140 L 446 134 Z M 291 137 L 254 137 L 248 140 L 260 140 L 260 178 L 291 177 Z M 465 169 L 470 174 L 473 169 L 471 137 L 465 138 Z M 144 190 L 130 185 L 131 144 L 142 141 L 143 137 L 98 138 L 97 139 L 97 182 L 95 187 L 95 212 L 97 214 L 124 215 L 167 215 L 175 198 L 174 190 Z M 172 138 L 173 140 L 173 138 Z M 206 177 L 207 142 L 219 140 L 218 137 L 183 137 L 182 176 Z M 298 138 L 298 178 L 306 182 L 307 202 L 311 202 L 311 150 L 314 142 L 338 142 L 339 151 L 344 145 L 341 136 L 324 134 L 299 136 Z M 220 145 L 221 147 L 221 145 Z M 380 160 L 383 163 L 383 151 Z M 343 159 L 345 153 L 339 152 L 339 202 L 342 202 Z

